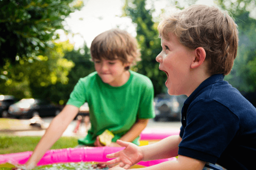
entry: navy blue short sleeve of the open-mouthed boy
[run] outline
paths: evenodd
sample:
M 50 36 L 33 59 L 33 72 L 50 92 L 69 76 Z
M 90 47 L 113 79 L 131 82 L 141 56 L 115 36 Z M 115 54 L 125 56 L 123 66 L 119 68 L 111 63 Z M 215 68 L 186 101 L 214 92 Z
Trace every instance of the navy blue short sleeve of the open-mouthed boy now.
M 215 164 L 239 130 L 239 119 L 215 100 L 201 99 L 189 106 L 179 155 Z

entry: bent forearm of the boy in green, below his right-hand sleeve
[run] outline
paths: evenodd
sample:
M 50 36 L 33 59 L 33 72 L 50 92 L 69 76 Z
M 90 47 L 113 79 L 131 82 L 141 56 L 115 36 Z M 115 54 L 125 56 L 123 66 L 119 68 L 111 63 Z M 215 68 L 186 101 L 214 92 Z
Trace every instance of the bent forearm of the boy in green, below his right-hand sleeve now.
M 131 129 L 123 135 L 120 140 L 125 142 L 132 142 L 145 129 L 148 124 L 148 119 L 139 119 Z

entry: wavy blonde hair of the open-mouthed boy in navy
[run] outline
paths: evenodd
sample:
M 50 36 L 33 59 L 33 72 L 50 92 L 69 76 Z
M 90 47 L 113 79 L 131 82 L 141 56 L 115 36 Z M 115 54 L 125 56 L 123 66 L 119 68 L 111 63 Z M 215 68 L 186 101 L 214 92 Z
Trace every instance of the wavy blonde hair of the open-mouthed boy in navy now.
M 238 48 L 238 30 L 227 12 L 206 5 L 192 5 L 158 25 L 159 36 L 169 40 L 174 33 L 180 43 L 190 49 L 203 47 L 209 74 L 230 73 Z

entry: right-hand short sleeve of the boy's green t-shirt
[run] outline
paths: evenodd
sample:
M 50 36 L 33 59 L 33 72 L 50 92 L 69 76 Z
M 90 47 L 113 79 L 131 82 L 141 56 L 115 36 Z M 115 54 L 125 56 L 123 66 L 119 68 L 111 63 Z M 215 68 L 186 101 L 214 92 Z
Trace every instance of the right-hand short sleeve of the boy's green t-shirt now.
M 155 117 L 154 114 L 154 87 L 150 79 L 142 80 L 144 86 L 140 94 L 140 106 L 138 110 L 138 119 L 151 119 Z

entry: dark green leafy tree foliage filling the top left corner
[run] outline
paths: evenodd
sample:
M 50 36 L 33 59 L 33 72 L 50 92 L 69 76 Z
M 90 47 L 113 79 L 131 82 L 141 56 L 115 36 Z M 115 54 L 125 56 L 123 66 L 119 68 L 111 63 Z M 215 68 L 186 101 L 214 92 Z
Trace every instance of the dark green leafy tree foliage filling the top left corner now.
M 0 67 L 44 54 L 82 0 L 0 0 Z

